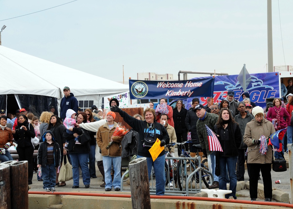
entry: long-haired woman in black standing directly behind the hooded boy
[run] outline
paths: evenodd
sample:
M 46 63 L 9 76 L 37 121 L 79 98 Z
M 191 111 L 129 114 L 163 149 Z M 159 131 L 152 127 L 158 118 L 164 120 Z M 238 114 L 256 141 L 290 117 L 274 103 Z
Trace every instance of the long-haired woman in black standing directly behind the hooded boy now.
M 63 139 L 63 130 L 66 130 L 62 120 L 57 115 L 52 115 L 49 121 L 47 130 L 52 131 L 55 141 L 58 143 L 61 153 L 61 164 L 63 164 L 63 157 L 67 154 L 67 151 L 63 149 L 66 140 Z M 68 158 L 70 159 L 70 158 Z M 56 169 L 56 185 L 55 186 L 66 186 L 66 182 L 62 181 L 61 184 L 58 181 L 59 173 L 58 168 Z

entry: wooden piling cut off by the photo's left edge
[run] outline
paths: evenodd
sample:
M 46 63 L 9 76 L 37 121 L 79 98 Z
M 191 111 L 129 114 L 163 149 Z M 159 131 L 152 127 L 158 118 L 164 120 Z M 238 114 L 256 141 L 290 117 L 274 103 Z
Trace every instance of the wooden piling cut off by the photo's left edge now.
M 11 208 L 11 196 L 10 196 L 10 166 L 0 166 L 0 208 Z

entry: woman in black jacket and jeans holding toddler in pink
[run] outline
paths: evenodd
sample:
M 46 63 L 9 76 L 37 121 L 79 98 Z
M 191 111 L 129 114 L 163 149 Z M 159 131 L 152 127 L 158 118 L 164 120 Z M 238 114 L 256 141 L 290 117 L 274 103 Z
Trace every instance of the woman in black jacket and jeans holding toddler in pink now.
M 79 112 L 77 114 L 77 124 L 86 123 L 87 117 L 84 112 Z M 88 154 L 90 153 L 90 141 L 85 144 L 77 145 L 75 144 L 74 138 L 81 135 L 86 131 L 82 128 L 69 128 L 74 134 L 66 133 L 66 129 L 63 131 L 64 140 L 68 140 L 68 153 L 71 159 L 72 173 L 73 173 L 73 186 L 72 189 L 79 188 L 79 166 L 82 172 L 82 180 L 85 188 L 90 187 L 91 177 L 88 169 Z

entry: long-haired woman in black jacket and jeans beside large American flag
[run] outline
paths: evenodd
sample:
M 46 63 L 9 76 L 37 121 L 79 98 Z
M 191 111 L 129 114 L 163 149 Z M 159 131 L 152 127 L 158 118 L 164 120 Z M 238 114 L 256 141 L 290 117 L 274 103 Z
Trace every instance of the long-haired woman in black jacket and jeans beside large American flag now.
M 214 132 L 217 134 L 223 152 L 216 152 L 216 169 L 215 173 L 219 176 L 219 189 L 227 190 L 226 185 L 226 166 L 230 180 L 229 189 L 231 194 L 226 194 L 225 198 L 236 199 L 236 162 L 238 156 L 238 148 L 241 144 L 241 130 L 236 123 L 228 108 L 222 108 L 219 119 L 214 126 Z

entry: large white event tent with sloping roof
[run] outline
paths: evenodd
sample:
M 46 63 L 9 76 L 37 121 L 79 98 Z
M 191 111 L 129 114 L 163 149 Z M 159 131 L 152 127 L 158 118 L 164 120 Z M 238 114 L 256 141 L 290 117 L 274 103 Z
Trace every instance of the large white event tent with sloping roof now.
M 129 91 L 128 85 L 84 73 L 35 56 L 0 46 L 0 69 L 2 78 L 10 82 L 1 85 L 0 95 L 42 95 L 57 98 L 58 107 L 63 95 L 63 87 L 69 86 L 71 93 L 79 101 L 93 101 L 102 105 L 102 97 Z M 15 78 L 12 81 L 10 77 Z M 84 80 L 86 83 L 81 82 Z M 58 111 L 59 112 L 59 111 Z

